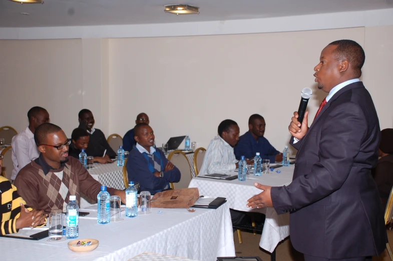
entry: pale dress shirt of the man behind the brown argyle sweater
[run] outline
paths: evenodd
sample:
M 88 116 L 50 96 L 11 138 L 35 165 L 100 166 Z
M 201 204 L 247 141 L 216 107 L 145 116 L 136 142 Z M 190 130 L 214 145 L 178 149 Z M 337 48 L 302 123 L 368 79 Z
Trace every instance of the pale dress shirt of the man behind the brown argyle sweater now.
M 18 172 L 27 164 L 35 160 L 40 155 L 36 142 L 34 141 L 34 134 L 29 129 L 20 132 L 13 137 L 12 144 L 12 160 L 14 163 L 13 173 L 11 179 L 15 180 Z

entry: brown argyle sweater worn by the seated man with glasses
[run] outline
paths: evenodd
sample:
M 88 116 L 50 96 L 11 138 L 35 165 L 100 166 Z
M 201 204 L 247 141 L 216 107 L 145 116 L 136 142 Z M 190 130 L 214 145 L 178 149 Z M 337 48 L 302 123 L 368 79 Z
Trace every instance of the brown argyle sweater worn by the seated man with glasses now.
M 76 195 L 78 204 L 80 193 L 97 200 L 101 189 L 101 184 L 76 158 L 69 157 L 59 169 L 51 169 L 41 154 L 20 170 L 15 185 L 27 205 L 46 213 L 65 212 L 70 195 Z M 108 187 L 107 191 L 114 195 L 115 189 Z

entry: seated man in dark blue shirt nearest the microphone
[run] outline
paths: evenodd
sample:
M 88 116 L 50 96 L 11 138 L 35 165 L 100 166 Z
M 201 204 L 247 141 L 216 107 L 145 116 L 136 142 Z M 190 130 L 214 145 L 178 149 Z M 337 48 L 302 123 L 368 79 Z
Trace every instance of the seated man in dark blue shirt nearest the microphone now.
M 259 114 L 253 114 L 248 119 L 248 131 L 239 137 L 235 146 L 236 159 L 241 156 L 251 159 L 259 152 L 262 159 L 270 159 L 270 163 L 282 161 L 282 153 L 276 150 L 269 141 L 263 137 L 265 134 L 265 119 Z

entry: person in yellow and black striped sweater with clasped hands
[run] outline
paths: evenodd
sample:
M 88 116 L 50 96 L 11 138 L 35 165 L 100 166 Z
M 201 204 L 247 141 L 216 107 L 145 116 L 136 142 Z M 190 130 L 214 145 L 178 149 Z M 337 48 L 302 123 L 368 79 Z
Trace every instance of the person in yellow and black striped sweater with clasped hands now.
M 0 155 L 0 169 L 3 155 Z M 24 227 L 42 226 L 47 215 L 26 206 L 17 188 L 7 178 L 0 175 L 0 235 L 18 233 Z

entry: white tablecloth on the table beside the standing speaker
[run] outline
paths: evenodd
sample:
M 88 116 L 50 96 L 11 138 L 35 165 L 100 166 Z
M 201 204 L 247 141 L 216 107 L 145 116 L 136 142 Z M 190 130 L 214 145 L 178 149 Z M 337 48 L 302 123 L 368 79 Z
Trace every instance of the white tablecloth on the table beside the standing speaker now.
M 277 173 L 275 170 L 280 170 L 281 173 Z M 246 181 L 196 177 L 191 180 L 188 187 L 197 187 L 200 195 L 226 197 L 227 204 L 232 209 L 264 213 L 266 219 L 259 246 L 273 252 L 277 244 L 289 235 L 289 213 L 277 215 L 274 208 L 250 209 L 246 207 L 246 204 L 247 199 L 261 192 L 254 187 L 254 182 L 268 186 L 282 186 L 291 183 L 294 165 L 275 170 L 269 174 L 262 174 L 260 177 L 250 174 Z M 237 175 L 237 172 L 230 174 Z

